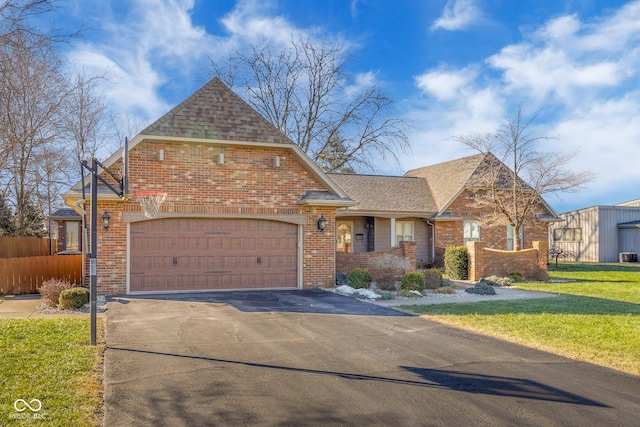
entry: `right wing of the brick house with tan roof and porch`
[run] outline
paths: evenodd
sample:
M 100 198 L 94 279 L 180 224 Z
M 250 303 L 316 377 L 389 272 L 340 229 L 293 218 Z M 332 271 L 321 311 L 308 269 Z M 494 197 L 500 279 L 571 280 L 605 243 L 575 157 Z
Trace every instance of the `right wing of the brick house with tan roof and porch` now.
M 484 212 L 475 198 L 484 190 L 479 174 L 488 156 L 492 155 L 464 157 L 410 170 L 404 176 L 329 174 L 359 202 L 337 214 L 337 251 L 387 251 L 401 241 L 415 241 L 418 265 L 441 265 L 448 246 L 469 241 L 513 250 L 512 227 L 481 226 Z M 544 200 L 540 210 L 543 214 L 520 230 L 523 248 L 534 241 L 546 242 L 549 225 L 558 220 Z

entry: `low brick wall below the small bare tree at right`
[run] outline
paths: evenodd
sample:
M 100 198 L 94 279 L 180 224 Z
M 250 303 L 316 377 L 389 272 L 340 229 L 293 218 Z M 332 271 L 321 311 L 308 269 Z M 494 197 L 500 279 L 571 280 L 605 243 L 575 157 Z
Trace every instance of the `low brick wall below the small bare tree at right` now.
M 521 251 L 502 251 L 486 247 L 486 242 L 468 242 L 469 280 L 478 281 L 492 274 L 506 276 L 520 271 L 531 277 L 536 269 L 547 269 L 549 244 L 533 242 L 533 247 Z

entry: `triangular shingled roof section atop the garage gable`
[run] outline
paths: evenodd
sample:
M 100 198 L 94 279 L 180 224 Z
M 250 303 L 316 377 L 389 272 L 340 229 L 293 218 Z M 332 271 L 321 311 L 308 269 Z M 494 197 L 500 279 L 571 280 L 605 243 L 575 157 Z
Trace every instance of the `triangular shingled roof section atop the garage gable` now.
M 293 144 L 217 77 L 140 134 Z

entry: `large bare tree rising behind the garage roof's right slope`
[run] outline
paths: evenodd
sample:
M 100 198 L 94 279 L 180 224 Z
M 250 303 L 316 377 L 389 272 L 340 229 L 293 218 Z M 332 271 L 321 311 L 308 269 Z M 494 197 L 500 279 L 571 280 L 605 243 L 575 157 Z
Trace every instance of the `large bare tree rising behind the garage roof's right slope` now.
M 376 170 L 409 150 L 405 121 L 375 84 L 349 86 L 347 50 L 294 34 L 287 47 L 237 52 L 213 74 L 327 171 Z M 331 161 L 324 161 L 331 159 Z

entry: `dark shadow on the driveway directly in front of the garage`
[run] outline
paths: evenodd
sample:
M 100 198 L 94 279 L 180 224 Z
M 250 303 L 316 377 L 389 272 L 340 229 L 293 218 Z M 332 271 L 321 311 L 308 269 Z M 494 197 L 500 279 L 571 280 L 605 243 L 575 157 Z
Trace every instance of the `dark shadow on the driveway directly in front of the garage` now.
M 127 295 L 111 297 L 110 302 L 126 304 L 128 300 L 161 300 L 202 302 L 231 305 L 246 313 L 313 313 L 356 316 L 413 316 L 323 289 L 220 291 L 172 293 L 158 295 Z

